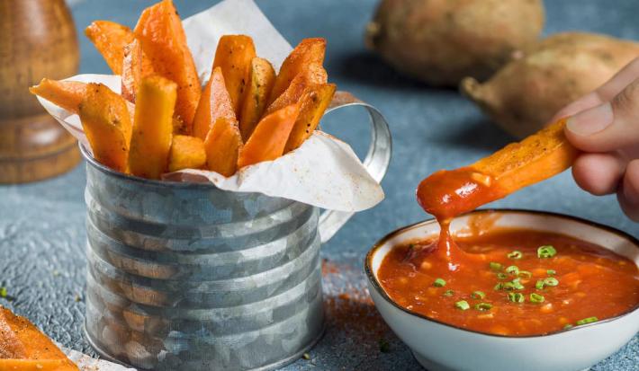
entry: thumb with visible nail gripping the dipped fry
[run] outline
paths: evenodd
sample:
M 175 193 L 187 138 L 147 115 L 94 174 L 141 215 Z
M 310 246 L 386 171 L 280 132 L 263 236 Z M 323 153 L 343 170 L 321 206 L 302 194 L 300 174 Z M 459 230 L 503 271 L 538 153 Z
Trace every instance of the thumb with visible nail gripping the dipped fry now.
M 639 146 L 639 79 L 611 102 L 599 104 L 568 119 L 566 137 L 587 152 L 610 152 Z

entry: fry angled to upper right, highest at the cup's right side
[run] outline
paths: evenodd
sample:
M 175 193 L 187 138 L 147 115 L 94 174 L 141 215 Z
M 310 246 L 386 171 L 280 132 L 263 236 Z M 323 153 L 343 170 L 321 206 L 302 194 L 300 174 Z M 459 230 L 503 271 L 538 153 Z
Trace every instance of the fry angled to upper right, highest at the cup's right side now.
M 293 49 L 291 54 L 284 59 L 279 74 L 275 79 L 275 85 L 271 91 L 269 104 L 288 88 L 296 75 L 299 75 L 305 66 L 317 63 L 322 64 L 326 53 L 326 40 L 322 38 L 304 39 Z M 325 82 L 324 82 L 325 83 Z

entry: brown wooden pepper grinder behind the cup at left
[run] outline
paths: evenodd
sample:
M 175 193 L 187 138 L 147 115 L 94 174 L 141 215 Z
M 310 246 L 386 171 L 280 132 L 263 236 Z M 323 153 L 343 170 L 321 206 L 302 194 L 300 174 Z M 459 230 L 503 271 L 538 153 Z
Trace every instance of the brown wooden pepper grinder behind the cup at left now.
M 39 181 L 80 160 L 76 139 L 29 86 L 76 75 L 76 27 L 64 0 L 0 0 L 0 183 Z

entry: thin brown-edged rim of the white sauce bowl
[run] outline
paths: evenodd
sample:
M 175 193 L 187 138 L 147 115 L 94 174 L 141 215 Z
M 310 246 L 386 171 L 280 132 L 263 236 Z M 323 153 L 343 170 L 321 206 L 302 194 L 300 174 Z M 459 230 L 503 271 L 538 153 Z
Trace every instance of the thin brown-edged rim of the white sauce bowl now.
M 530 209 L 525 209 L 525 208 L 482 208 L 482 209 L 473 210 L 473 211 L 471 211 L 469 213 L 465 213 L 465 214 L 460 215 L 460 216 L 468 216 L 468 215 L 473 215 L 473 214 L 489 214 L 489 213 L 495 213 L 495 212 L 513 213 L 513 214 L 515 214 L 515 213 L 524 213 L 524 214 L 533 214 L 533 215 L 536 215 L 536 216 L 554 216 L 554 217 L 560 217 L 560 218 L 563 218 L 563 219 L 569 219 L 569 220 L 572 220 L 572 221 L 575 221 L 575 222 L 579 222 L 579 223 L 582 223 L 582 224 L 585 224 L 585 225 L 590 225 L 592 227 L 605 230 L 605 231 L 610 232 L 612 234 L 617 234 L 620 237 L 625 238 L 628 241 L 630 241 L 630 243 L 633 243 L 635 245 L 635 247 L 637 247 L 637 249 L 639 249 L 639 239 L 636 238 L 635 236 L 631 235 L 631 234 L 627 234 L 626 232 L 621 231 L 621 230 L 619 230 L 617 228 L 611 227 L 609 225 L 602 225 L 602 224 L 599 224 L 597 222 L 593 222 L 592 220 L 585 219 L 585 218 L 582 218 L 582 217 L 579 217 L 579 216 L 570 216 L 570 215 L 566 215 L 566 214 L 555 213 L 555 212 L 552 212 L 552 211 L 530 210 Z M 377 292 L 377 294 L 379 294 L 380 296 L 383 297 L 384 301 L 388 302 L 389 304 L 391 304 L 392 306 L 396 307 L 397 309 L 400 309 L 405 314 L 409 314 L 409 315 L 411 315 L 413 317 L 418 317 L 418 318 L 420 318 L 422 320 L 426 320 L 428 322 L 435 322 L 435 323 L 438 323 L 438 324 L 441 324 L 441 325 L 444 325 L 446 327 L 450 327 L 450 328 L 453 328 L 453 329 L 456 329 L 456 330 L 471 332 L 471 333 L 478 334 L 478 335 L 483 335 L 483 336 L 491 336 L 491 337 L 495 337 L 495 338 L 505 338 L 505 339 L 531 339 L 531 338 L 544 338 L 544 337 L 557 335 L 557 334 L 560 334 L 560 333 L 563 333 L 563 332 L 567 332 L 567 331 L 576 331 L 576 330 L 581 330 L 581 329 L 584 329 L 584 328 L 587 328 L 587 327 L 597 326 L 599 324 L 604 324 L 606 322 L 617 321 L 618 319 L 620 319 L 622 317 L 625 317 L 626 315 L 633 314 L 637 310 L 639 310 L 639 303 L 637 303 L 633 308 L 629 309 L 628 311 L 626 311 L 626 312 L 624 312 L 622 314 L 618 314 L 618 315 L 616 315 L 614 317 L 609 317 L 609 318 L 606 318 L 604 320 L 600 320 L 598 322 L 582 324 L 582 325 L 579 325 L 579 326 L 573 326 L 570 329 L 562 329 L 562 330 L 559 330 L 559 331 L 552 331 L 552 332 L 539 334 L 539 335 L 522 335 L 522 336 L 500 335 L 500 334 L 495 334 L 495 333 L 464 329 L 463 327 L 456 326 L 454 324 L 450 324 L 450 323 L 438 321 L 438 320 L 435 320 L 435 319 L 432 319 L 432 318 L 428 318 L 424 314 L 418 314 L 418 313 L 415 313 L 415 312 L 411 312 L 409 309 L 406 309 L 403 306 L 397 304 L 394 300 L 392 300 L 391 296 L 388 296 L 388 294 L 386 294 L 386 291 L 383 289 L 382 285 L 377 280 L 377 278 L 376 278 L 376 276 L 375 276 L 375 274 L 373 272 L 372 261 L 373 261 L 373 257 L 375 255 L 375 253 L 388 240 L 390 240 L 392 237 L 395 237 L 398 234 L 402 234 L 402 233 L 404 233 L 404 232 L 406 232 L 406 231 L 408 231 L 410 229 L 416 228 L 418 226 L 429 225 L 429 224 L 433 224 L 433 223 L 437 223 L 437 220 L 435 218 L 422 220 L 420 222 L 413 223 L 411 225 L 406 225 L 406 226 L 403 226 L 401 228 L 398 228 L 398 229 L 392 231 L 390 234 L 384 235 L 379 241 L 374 243 L 374 245 L 371 248 L 371 250 L 369 250 L 369 252 L 366 253 L 365 263 L 364 263 L 364 272 L 365 272 L 366 278 L 371 283 L 371 287 L 374 288 L 374 290 Z

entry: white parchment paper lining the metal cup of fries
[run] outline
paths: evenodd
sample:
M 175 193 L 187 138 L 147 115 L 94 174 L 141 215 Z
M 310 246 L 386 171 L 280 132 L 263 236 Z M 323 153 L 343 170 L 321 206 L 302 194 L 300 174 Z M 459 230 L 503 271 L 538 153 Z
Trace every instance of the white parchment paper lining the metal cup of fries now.
M 218 40 L 225 34 L 253 38 L 257 55 L 279 67 L 291 45 L 275 30 L 253 0 L 225 0 L 184 20 L 184 30 L 201 82 L 208 80 Z M 120 93 L 120 76 L 76 75 L 67 80 L 102 83 Z M 38 97 L 49 113 L 89 148 L 77 115 Z M 260 192 L 319 208 L 361 211 L 382 201 L 383 190 L 366 172 L 350 146 L 316 131 L 300 148 L 275 161 L 247 166 L 226 178 L 217 172 L 184 170 L 171 181 L 210 181 L 222 190 Z

